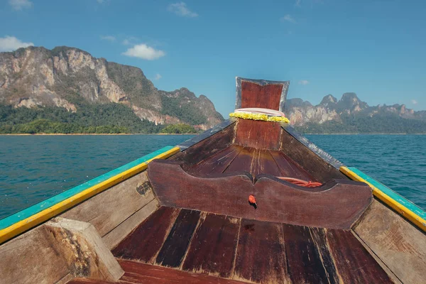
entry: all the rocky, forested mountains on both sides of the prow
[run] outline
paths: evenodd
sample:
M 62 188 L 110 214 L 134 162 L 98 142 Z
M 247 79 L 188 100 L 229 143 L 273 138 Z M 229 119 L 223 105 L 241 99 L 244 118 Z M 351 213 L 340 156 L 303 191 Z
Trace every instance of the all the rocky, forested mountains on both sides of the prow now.
M 426 133 L 426 111 L 369 107 L 354 93 L 316 106 L 288 99 L 285 114 L 304 133 Z M 141 69 L 65 46 L 0 53 L 0 133 L 156 133 L 167 124 L 205 130 L 223 121 L 187 88 L 155 88 Z

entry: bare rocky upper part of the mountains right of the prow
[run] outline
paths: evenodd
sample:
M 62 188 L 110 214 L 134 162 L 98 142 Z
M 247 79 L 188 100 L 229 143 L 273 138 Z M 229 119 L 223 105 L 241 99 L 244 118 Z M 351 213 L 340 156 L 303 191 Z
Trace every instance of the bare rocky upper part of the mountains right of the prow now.
M 288 99 L 285 105 L 285 114 L 293 126 L 324 124 L 326 121 L 342 123 L 343 116 L 394 115 L 403 119 L 426 120 L 426 111 L 413 111 L 413 109 L 407 109 L 405 104 L 369 107 L 355 93 L 344 93 L 342 99 L 339 100 L 328 94 L 316 106 L 313 106 L 310 102 L 304 102 L 302 99 Z

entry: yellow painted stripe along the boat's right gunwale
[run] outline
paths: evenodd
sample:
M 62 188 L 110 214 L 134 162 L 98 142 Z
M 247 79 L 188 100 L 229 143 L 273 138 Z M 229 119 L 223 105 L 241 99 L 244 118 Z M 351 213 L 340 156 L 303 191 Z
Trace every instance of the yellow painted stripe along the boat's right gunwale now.
M 415 214 L 413 211 L 405 207 L 403 204 L 400 204 L 396 200 L 393 200 L 393 198 L 389 197 L 384 193 L 383 191 L 379 190 L 377 187 L 372 185 L 370 182 L 367 182 L 364 180 L 364 178 L 361 178 L 359 175 L 351 171 L 349 168 L 346 168 L 344 166 L 340 167 L 340 171 L 347 175 L 351 180 L 356 180 L 359 182 L 365 182 L 367 185 L 371 187 L 373 190 L 373 195 L 377 197 L 379 200 L 381 200 L 383 203 L 387 204 L 389 207 L 394 209 L 399 214 L 403 215 L 406 219 L 410 220 L 413 224 L 415 224 L 417 227 L 422 229 L 422 231 L 426 232 L 426 220 L 422 217 Z

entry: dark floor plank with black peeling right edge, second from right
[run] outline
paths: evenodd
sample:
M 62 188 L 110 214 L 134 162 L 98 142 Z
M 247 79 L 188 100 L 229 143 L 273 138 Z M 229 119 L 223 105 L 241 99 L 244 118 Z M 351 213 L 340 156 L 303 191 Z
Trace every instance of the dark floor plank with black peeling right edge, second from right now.
M 325 269 L 319 250 L 319 246 L 325 246 L 324 242 L 317 244 L 309 227 L 283 224 L 283 231 L 288 273 L 293 283 L 338 283 L 334 269 Z M 325 262 L 332 267 L 330 260 L 328 256 Z

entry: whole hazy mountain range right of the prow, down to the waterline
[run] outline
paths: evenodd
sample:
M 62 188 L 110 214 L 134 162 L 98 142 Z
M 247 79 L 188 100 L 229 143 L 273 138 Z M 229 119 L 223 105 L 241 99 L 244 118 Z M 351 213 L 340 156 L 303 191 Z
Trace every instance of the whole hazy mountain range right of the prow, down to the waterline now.
M 316 106 L 288 99 L 285 114 L 304 133 L 426 133 L 426 111 L 405 104 L 370 107 L 355 93 L 344 93 L 339 100 L 328 94 Z

